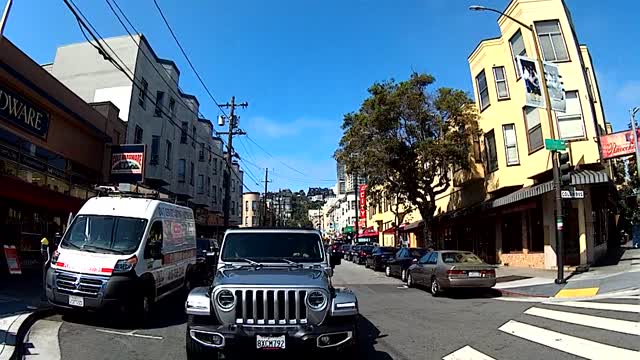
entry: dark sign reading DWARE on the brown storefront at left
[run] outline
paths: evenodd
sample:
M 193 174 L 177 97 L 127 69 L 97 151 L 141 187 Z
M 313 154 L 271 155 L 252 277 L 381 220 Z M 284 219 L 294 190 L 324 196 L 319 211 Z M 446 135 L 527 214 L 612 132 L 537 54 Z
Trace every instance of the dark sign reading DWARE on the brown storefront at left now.
M 5 87 L 0 87 L 0 117 L 31 134 L 47 138 L 49 113 Z

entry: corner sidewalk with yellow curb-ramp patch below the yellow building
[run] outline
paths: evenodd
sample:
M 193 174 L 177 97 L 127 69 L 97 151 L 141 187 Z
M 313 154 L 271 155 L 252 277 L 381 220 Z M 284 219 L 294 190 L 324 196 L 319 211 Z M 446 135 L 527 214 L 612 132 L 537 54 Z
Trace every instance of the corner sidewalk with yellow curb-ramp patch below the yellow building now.
M 592 266 L 589 271 L 565 271 L 565 284 L 556 284 L 555 270 L 500 267 L 495 288 L 503 296 L 586 298 L 640 289 L 640 249 L 626 249 L 615 264 Z

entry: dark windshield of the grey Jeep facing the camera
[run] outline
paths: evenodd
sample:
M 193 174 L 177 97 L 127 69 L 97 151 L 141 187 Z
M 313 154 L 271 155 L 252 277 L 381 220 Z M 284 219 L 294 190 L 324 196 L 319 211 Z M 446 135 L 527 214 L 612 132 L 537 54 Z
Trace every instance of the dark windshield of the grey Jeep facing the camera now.
M 230 233 L 222 249 L 222 261 L 296 263 L 324 260 L 322 242 L 316 234 L 308 233 Z M 289 260 L 289 261 L 287 261 Z

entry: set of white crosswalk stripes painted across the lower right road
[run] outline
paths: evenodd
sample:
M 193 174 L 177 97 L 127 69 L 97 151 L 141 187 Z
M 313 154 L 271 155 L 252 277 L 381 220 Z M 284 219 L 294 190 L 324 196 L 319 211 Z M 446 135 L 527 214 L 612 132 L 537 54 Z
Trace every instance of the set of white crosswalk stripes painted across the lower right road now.
M 638 297 L 622 297 L 617 300 L 640 299 Z M 573 309 L 587 309 L 595 311 L 610 311 L 619 314 L 640 313 L 640 305 L 630 303 L 612 302 L 548 302 L 543 305 L 562 306 Z M 603 316 L 587 315 L 572 311 L 551 310 L 544 307 L 534 306 L 523 312 L 524 320 L 511 319 L 503 324 L 498 330 L 504 334 L 509 334 L 517 338 L 532 342 L 546 348 L 561 351 L 567 354 L 583 357 L 586 359 L 616 359 L 616 360 L 636 360 L 640 359 L 640 351 L 631 350 L 625 347 L 613 346 L 593 340 L 588 340 L 570 335 L 560 331 L 550 330 L 526 323 L 528 319 L 539 318 L 553 321 L 554 327 L 560 323 L 569 323 L 585 328 L 599 329 L 612 333 L 627 334 L 636 337 L 635 342 L 630 346 L 637 345 L 637 337 L 640 337 L 640 322 L 620 320 Z M 552 327 L 553 328 L 553 327 Z M 517 343 L 514 344 L 514 351 L 517 352 Z M 490 353 L 490 352 L 488 352 Z M 443 360 L 496 360 L 490 354 L 483 353 L 469 345 L 454 351 L 443 357 Z

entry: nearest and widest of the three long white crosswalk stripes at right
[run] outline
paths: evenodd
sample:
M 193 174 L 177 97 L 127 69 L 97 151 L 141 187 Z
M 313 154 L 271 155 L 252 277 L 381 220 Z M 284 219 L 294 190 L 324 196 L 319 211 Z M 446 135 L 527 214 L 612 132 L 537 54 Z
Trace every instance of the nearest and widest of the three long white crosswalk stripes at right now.
M 637 360 L 640 352 L 619 348 L 579 337 L 546 330 L 537 326 L 509 320 L 499 329 L 502 332 L 586 359 Z

